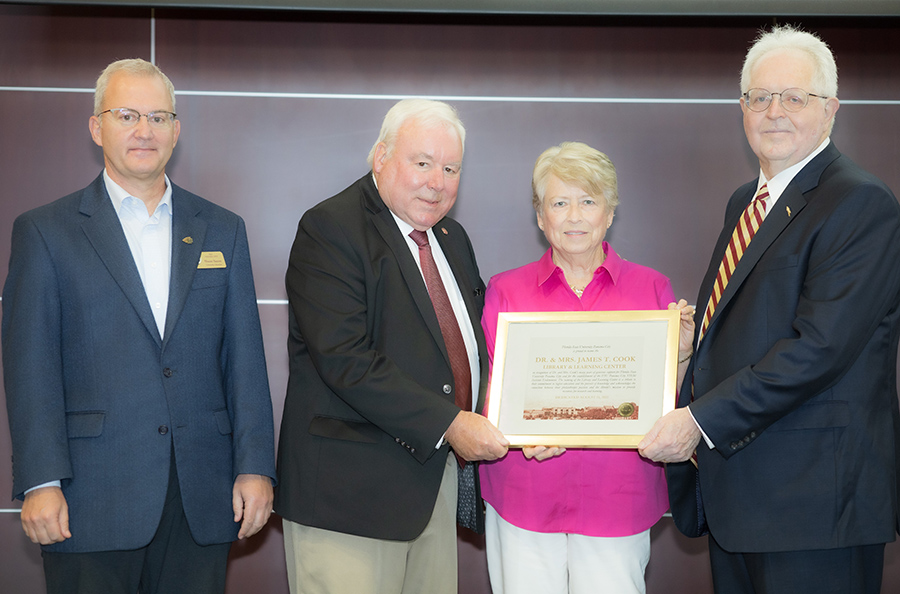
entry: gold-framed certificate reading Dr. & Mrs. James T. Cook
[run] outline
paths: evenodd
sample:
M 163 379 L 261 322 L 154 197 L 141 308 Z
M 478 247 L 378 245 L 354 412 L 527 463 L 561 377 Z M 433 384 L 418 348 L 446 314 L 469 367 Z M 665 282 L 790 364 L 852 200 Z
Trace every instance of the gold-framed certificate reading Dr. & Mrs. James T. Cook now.
M 677 310 L 504 312 L 488 419 L 512 447 L 636 448 L 675 408 Z

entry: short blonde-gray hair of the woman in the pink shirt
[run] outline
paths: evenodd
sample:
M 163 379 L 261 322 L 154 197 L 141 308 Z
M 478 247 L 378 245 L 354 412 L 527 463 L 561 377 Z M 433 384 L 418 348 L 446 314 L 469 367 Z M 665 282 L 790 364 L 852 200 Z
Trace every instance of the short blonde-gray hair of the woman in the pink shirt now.
M 616 166 L 609 157 L 583 142 L 563 142 L 552 146 L 535 161 L 531 176 L 531 203 L 538 213 L 544 203 L 550 175 L 581 188 L 593 198 L 603 197 L 606 206 L 613 212 L 619 205 Z

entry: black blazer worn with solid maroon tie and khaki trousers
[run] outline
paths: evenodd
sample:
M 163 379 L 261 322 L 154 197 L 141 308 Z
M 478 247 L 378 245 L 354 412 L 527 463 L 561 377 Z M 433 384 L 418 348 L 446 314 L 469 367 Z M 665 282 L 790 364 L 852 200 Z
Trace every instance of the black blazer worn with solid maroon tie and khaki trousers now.
M 484 284 L 463 228 L 435 236 L 478 341 Z M 368 173 L 300 220 L 286 275 L 290 378 L 275 510 L 306 526 L 412 540 L 431 517 L 459 409 L 418 266 Z M 480 509 L 480 501 L 479 509 Z

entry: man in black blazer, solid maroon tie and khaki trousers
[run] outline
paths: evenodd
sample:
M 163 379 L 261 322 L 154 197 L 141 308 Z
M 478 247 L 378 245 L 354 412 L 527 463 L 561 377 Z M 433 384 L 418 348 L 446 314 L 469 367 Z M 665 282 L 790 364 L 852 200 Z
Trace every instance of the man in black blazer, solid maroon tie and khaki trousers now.
M 449 448 L 471 461 L 507 446 L 475 412 L 487 384 L 484 284 L 468 236 L 445 216 L 464 140 L 449 105 L 401 101 L 385 116 L 372 171 L 300 220 L 275 494 L 294 594 L 457 591 L 456 519 L 477 528 L 482 508 L 474 490 L 457 501 L 457 475 L 472 480 L 474 469 Z M 417 234 L 465 343 L 461 369 Z M 468 410 L 460 390 L 474 396 Z

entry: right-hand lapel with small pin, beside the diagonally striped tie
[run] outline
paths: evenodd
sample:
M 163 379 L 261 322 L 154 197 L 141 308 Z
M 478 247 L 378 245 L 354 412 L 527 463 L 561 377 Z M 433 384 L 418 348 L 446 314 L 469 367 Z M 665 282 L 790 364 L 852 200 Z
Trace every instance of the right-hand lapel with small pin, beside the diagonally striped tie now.
M 800 214 L 800 211 L 806 207 L 806 192 L 812 190 L 819 184 L 819 178 L 822 176 L 822 172 L 839 156 L 840 152 L 835 148 L 834 143 L 830 143 L 821 153 L 810 161 L 806 167 L 801 169 L 800 172 L 794 176 L 794 179 L 792 179 L 791 183 L 785 188 L 781 197 L 778 198 L 778 201 L 772 207 L 772 210 L 766 213 L 763 224 L 760 226 L 759 231 L 756 232 L 750 245 L 747 246 L 747 250 L 741 257 L 741 261 L 738 262 L 734 273 L 728 281 L 728 285 L 725 287 L 725 291 L 722 293 L 722 298 L 719 300 L 716 311 L 710 320 L 710 328 L 716 323 L 720 314 L 725 311 L 728 303 L 747 279 L 750 271 L 753 270 L 757 263 L 759 263 L 760 258 L 766 253 L 769 246 L 778 239 L 778 236 L 781 235 L 795 217 Z M 755 187 L 753 190 L 755 193 Z M 747 201 L 744 205 L 746 206 L 752 199 L 753 194 L 747 197 Z M 737 221 L 734 221 L 734 224 L 737 224 Z M 733 231 L 734 227 L 732 227 L 731 230 Z M 729 238 L 730 236 L 731 234 L 729 233 Z M 725 245 L 727 245 L 727 243 Z M 723 251 L 724 247 L 717 251 L 717 253 L 719 253 L 719 261 L 721 261 L 721 254 Z M 714 279 L 715 276 L 712 277 L 712 280 Z M 708 291 L 704 291 L 704 294 L 707 296 L 707 301 L 711 292 L 712 283 L 710 282 Z

